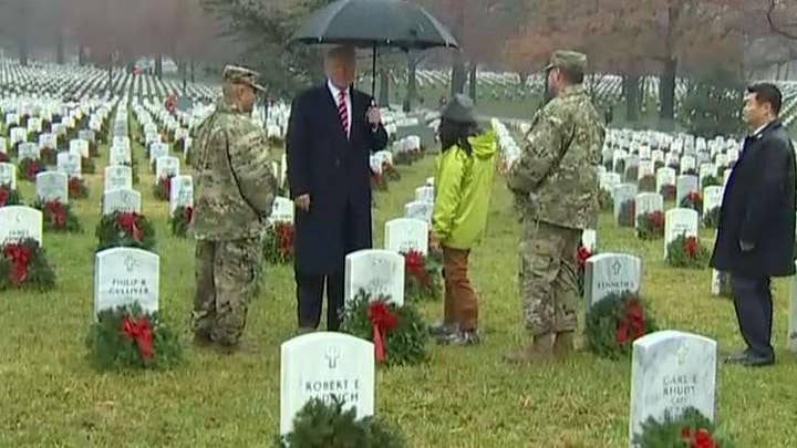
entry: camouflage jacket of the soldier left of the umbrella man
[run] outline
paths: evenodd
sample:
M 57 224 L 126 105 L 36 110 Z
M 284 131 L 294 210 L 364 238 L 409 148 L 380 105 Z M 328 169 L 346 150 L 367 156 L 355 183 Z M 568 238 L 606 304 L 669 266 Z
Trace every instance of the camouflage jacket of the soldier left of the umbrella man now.
M 195 238 L 259 238 L 277 191 L 262 129 L 219 101 L 198 129 L 195 150 Z

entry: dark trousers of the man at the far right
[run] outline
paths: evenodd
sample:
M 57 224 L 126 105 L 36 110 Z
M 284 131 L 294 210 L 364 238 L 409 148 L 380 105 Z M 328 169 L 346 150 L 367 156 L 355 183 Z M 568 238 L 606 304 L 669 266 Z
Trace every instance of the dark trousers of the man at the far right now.
M 731 277 L 734 308 L 742 337 L 748 350 L 758 356 L 773 357 L 772 346 L 773 302 L 769 278 L 745 279 Z

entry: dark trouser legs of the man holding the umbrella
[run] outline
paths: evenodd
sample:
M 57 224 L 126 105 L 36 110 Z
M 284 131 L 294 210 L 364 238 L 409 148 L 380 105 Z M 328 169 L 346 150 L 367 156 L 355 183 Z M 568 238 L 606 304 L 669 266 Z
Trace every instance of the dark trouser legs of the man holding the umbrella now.
M 300 329 L 318 329 L 321 322 L 324 285 L 327 286 L 327 330 L 340 329 L 343 311 L 343 272 L 333 275 L 304 275 L 296 273 L 298 317 Z

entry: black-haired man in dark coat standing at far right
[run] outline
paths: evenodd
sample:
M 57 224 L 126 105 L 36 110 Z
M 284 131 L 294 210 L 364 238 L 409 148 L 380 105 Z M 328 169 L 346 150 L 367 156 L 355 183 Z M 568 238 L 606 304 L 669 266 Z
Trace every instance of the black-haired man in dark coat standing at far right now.
M 773 84 L 747 90 L 744 117 L 753 134 L 731 173 L 712 267 L 731 273 L 742 336 L 747 348 L 728 363 L 775 363 L 772 346 L 772 277 L 795 273 L 795 153 L 778 119 L 783 101 Z

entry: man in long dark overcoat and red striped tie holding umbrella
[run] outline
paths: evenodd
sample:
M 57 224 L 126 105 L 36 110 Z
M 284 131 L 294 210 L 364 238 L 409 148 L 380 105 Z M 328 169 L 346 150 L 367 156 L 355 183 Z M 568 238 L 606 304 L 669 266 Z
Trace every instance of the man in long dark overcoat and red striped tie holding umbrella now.
M 355 62 L 353 48 L 330 50 L 327 82 L 293 101 L 288 124 L 300 332 L 319 326 L 324 285 L 327 330 L 339 329 L 345 256 L 371 248 L 370 156 L 387 134 L 373 98 L 351 86 Z

